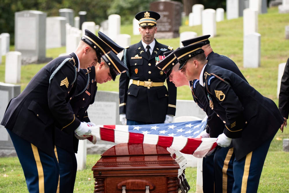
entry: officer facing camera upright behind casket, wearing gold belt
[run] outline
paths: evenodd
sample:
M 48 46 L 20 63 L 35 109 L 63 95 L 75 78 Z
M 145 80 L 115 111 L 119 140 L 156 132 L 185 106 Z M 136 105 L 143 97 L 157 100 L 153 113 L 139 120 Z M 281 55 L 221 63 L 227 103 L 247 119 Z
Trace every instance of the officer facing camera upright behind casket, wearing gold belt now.
M 165 74 L 155 65 L 173 48 L 154 39 L 157 12 L 139 12 L 135 18 L 141 41 L 124 49 L 122 61 L 128 71 L 119 78 L 120 121 L 123 125 L 170 123 L 176 112 L 176 87 L 169 80 L 164 86 Z

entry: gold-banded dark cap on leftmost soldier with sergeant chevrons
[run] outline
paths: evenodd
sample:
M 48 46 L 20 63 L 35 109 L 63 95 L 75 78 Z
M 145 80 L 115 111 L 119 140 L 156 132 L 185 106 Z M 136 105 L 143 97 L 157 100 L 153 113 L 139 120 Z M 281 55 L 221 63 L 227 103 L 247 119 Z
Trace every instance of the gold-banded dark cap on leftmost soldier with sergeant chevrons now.
M 81 40 L 90 45 L 95 50 L 98 62 L 100 62 L 101 56 L 111 51 L 111 47 L 105 43 L 112 41 L 111 39 L 100 39 L 87 29 L 85 29 L 84 36 L 82 36 Z

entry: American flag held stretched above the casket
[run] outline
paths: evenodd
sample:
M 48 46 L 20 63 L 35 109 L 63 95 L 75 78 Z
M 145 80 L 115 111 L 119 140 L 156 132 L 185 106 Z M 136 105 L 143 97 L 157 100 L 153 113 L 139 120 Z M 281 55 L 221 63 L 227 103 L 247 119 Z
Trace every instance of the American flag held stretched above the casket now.
M 97 125 L 91 135 L 114 143 L 145 143 L 202 158 L 217 146 L 216 138 L 200 138 L 206 120 L 150 125 Z

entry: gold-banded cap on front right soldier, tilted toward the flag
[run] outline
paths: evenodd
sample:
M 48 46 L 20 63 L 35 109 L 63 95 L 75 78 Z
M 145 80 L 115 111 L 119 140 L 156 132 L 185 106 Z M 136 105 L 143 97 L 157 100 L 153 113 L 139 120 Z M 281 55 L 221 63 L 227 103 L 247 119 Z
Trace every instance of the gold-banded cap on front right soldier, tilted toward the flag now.
M 174 55 L 176 56 L 176 58 L 178 59 L 178 62 L 180 63 L 179 70 L 181 70 L 183 68 L 183 66 L 186 64 L 186 62 L 190 58 L 204 52 L 204 50 L 202 49 L 203 45 L 204 45 L 204 43 L 200 42 L 200 43 L 196 43 L 196 44 L 182 47 L 180 49 L 176 49 L 173 52 Z

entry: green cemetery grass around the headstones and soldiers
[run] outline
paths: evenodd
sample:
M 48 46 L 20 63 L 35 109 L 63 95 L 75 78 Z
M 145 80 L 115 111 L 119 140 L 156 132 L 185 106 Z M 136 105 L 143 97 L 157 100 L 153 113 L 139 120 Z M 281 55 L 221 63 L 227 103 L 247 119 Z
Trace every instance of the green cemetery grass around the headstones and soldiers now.
M 185 23 L 185 22 L 184 22 Z M 259 15 L 258 33 L 261 34 L 261 66 L 257 69 L 243 67 L 243 18 L 224 20 L 217 23 L 217 36 L 210 38 L 214 52 L 231 58 L 248 82 L 262 95 L 272 99 L 278 105 L 277 76 L 278 65 L 285 63 L 289 57 L 289 40 L 285 39 L 285 26 L 289 25 L 289 14 L 279 14 L 278 8 L 268 8 L 267 14 Z M 193 31 L 202 34 L 202 27 L 180 27 L 180 32 Z M 140 41 L 140 35 L 132 35 L 132 25 L 122 25 L 122 34 L 131 34 L 131 44 Z M 179 38 L 160 39 L 159 42 L 173 46 L 179 46 Z M 11 51 L 14 47 L 11 47 Z M 56 58 L 64 53 L 65 47 L 47 49 L 46 56 Z M 5 56 L 0 65 L 0 82 L 4 82 Z M 21 68 L 21 90 L 23 90 L 34 74 L 45 64 L 23 65 Z M 119 77 L 115 82 L 98 85 L 98 90 L 118 92 Z M 188 87 L 178 87 L 177 99 L 192 100 L 192 94 Z M 289 192 L 289 153 L 282 151 L 282 140 L 289 137 L 289 128 L 284 128 L 284 133 L 279 130 L 273 139 L 263 172 L 259 189 L 260 193 L 288 193 Z M 92 166 L 100 158 L 100 155 L 87 155 L 85 170 L 78 171 L 74 192 L 93 192 L 94 179 Z M 191 185 L 189 192 L 196 191 L 196 168 L 187 168 L 186 177 Z M 25 178 L 17 157 L 0 158 L 0 193 L 2 192 L 28 192 Z

